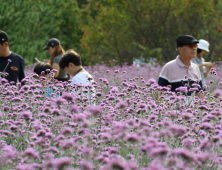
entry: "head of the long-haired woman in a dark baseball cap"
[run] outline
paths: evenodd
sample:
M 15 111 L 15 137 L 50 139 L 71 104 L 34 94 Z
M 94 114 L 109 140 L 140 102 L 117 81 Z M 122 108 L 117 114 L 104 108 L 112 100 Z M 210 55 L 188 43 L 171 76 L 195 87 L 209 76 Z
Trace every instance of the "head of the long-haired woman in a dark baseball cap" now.
M 48 50 L 50 54 L 49 63 L 52 65 L 53 58 L 58 55 L 65 54 L 64 49 L 62 48 L 62 45 L 60 41 L 57 38 L 52 38 L 47 41 L 47 44 L 45 47 L 43 47 L 43 50 Z

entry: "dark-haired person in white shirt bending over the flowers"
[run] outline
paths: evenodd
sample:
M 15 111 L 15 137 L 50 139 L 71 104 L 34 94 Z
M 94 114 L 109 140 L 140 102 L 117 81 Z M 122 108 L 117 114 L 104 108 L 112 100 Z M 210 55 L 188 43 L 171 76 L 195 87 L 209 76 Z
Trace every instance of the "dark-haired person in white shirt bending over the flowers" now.
M 83 67 L 81 62 L 81 56 L 74 50 L 69 50 L 66 52 L 63 57 L 59 61 L 59 66 L 64 69 L 70 76 L 72 76 L 72 85 L 80 85 L 84 86 L 82 91 L 78 91 L 78 89 L 74 89 L 75 93 L 78 94 L 84 93 L 84 91 L 88 91 L 88 97 L 91 101 L 92 95 L 95 93 L 95 89 L 92 86 L 93 77 L 89 74 Z

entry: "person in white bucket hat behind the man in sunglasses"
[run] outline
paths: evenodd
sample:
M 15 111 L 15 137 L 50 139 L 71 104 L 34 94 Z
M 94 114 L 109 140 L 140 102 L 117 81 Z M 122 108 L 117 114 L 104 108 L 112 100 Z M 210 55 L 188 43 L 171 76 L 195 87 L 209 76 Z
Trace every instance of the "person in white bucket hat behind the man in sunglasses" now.
M 199 43 L 197 44 L 197 55 L 191 60 L 200 69 L 203 87 L 206 86 L 205 78 L 207 77 L 207 74 L 210 72 L 210 69 L 214 67 L 213 63 L 205 62 L 203 58 L 206 52 L 210 52 L 209 46 L 210 44 L 206 40 L 199 40 Z

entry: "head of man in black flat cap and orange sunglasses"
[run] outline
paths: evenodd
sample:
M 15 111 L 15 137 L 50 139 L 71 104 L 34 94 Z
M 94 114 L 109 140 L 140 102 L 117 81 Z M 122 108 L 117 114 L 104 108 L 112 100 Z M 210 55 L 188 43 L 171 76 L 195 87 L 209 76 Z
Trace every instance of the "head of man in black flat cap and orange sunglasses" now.
M 182 35 L 177 39 L 177 50 L 181 57 L 191 60 L 196 56 L 198 40 L 190 35 Z

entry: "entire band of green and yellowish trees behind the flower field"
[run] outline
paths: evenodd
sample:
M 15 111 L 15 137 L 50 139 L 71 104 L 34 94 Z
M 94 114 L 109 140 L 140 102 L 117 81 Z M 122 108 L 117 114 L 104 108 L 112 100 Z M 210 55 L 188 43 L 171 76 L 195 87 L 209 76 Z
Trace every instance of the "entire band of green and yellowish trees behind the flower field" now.
M 0 1 L 0 29 L 26 64 L 49 58 L 42 47 L 52 37 L 80 53 L 83 65 L 113 59 L 131 64 L 135 57 L 166 62 L 176 57 L 175 39 L 182 34 L 208 40 L 206 60 L 222 60 L 222 1 Z

